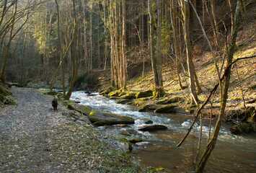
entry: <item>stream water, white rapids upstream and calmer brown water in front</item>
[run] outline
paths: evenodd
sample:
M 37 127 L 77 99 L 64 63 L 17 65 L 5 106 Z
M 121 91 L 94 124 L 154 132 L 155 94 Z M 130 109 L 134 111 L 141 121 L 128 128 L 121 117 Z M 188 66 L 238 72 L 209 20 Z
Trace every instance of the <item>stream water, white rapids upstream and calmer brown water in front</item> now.
M 156 133 L 138 132 L 144 136 L 146 142 L 138 143 L 133 154 L 136 154 L 141 164 L 147 167 L 163 167 L 167 172 L 193 172 L 200 127 L 195 126 L 185 143 L 180 148 L 175 147 L 192 122 L 190 115 L 138 112 L 136 107 L 117 104 L 115 100 L 107 99 L 97 93 L 88 95 L 84 92 L 74 92 L 71 99 L 97 110 L 127 115 L 136 120 L 134 125 L 127 127 L 118 125 L 100 127 L 100 130 L 112 136 L 117 136 L 120 130 L 125 128 L 138 130 L 144 125 L 145 119 L 152 120 L 154 124 L 166 125 L 168 130 Z M 204 143 L 206 143 L 208 133 L 208 126 L 203 126 Z M 229 133 L 228 128 L 221 128 L 216 148 L 206 165 L 206 172 L 256 172 L 256 136 L 234 136 Z

